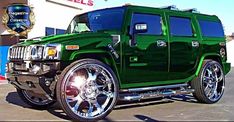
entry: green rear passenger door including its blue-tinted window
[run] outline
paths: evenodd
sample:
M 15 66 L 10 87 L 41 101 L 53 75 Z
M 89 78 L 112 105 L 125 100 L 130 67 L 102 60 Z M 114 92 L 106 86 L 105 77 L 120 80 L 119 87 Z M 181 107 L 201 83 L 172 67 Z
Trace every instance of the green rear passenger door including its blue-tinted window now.
M 175 16 L 176 15 L 176 16 Z M 196 21 L 191 15 L 169 14 L 170 75 L 169 80 L 185 79 L 196 71 L 200 50 Z

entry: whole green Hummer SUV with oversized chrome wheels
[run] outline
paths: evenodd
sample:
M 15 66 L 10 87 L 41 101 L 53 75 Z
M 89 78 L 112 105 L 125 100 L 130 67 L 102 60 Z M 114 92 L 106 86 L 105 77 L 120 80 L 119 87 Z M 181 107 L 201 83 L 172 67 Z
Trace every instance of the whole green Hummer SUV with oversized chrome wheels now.
M 27 104 L 58 101 L 74 120 L 106 117 L 118 100 L 224 93 L 226 42 L 217 16 L 173 6 L 122 6 L 77 15 L 67 33 L 9 49 L 6 78 Z

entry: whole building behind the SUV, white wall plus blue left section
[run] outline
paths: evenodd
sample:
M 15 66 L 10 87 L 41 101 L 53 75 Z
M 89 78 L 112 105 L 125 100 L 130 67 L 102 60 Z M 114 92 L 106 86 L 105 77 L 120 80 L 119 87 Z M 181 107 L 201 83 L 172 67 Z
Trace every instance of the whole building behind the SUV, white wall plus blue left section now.
M 0 79 L 5 73 L 9 46 L 17 43 L 19 39 L 63 34 L 75 15 L 90 11 L 94 6 L 94 0 L 1 0 L 0 23 L 5 9 L 13 3 L 33 8 L 35 25 L 26 37 L 16 37 L 0 24 Z

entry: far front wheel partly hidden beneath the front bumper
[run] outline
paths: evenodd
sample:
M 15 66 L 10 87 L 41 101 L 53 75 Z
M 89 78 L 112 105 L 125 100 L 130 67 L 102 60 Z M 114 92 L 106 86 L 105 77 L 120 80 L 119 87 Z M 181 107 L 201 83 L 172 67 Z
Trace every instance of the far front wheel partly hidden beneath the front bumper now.
M 40 97 L 33 96 L 31 91 L 26 91 L 22 89 L 16 89 L 16 90 L 17 90 L 19 97 L 23 100 L 23 102 L 28 104 L 34 109 L 38 109 L 38 110 L 47 109 L 56 102 L 54 100 L 49 100 L 43 95 L 40 95 Z

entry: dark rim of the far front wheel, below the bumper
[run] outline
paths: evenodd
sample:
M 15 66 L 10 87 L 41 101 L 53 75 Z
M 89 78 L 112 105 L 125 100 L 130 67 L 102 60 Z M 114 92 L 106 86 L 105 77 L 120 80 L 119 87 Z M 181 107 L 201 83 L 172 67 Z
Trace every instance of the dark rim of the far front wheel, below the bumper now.
M 23 90 L 22 93 L 28 101 L 35 105 L 43 106 L 53 102 L 53 100 L 49 100 L 45 95 L 36 94 L 33 91 Z

